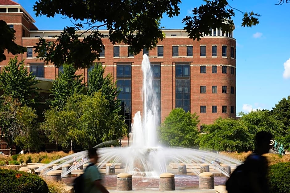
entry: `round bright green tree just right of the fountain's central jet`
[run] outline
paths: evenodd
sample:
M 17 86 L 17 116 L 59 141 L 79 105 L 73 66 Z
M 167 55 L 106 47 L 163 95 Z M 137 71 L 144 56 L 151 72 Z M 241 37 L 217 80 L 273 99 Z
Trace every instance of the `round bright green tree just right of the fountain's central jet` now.
M 160 141 L 166 146 L 194 147 L 198 138 L 196 113 L 173 109 L 160 127 Z

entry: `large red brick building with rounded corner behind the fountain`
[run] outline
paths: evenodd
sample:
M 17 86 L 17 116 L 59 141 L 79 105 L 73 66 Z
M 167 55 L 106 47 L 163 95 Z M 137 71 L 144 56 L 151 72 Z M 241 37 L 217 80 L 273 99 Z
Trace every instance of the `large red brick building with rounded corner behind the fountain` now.
M 25 59 L 25 65 L 39 78 L 55 79 L 61 68 L 36 59 L 33 46 L 39 38 L 51 39 L 61 30 L 39 30 L 34 19 L 25 9 L 10 0 L 0 0 L 0 19 L 16 30 L 16 43 L 27 47 L 27 53 L 19 54 L 19 60 Z M 154 71 L 154 90 L 160 99 L 161 121 L 176 107 L 182 107 L 200 116 L 201 124 L 213 123 L 218 117 L 236 115 L 236 40 L 233 33 L 214 29 L 204 34 L 201 40 L 193 41 L 184 30 L 164 30 L 166 38 L 153 50 L 143 50 L 138 55 L 130 55 L 127 45 L 112 45 L 105 35 L 105 50 L 100 61 L 111 73 L 114 81 L 122 88 L 119 98 L 126 110 L 130 124 L 136 111 L 143 111 L 141 98 L 143 54 L 149 56 Z M 0 62 L 0 68 L 6 66 L 9 58 Z M 88 81 L 88 70 L 77 71 Z

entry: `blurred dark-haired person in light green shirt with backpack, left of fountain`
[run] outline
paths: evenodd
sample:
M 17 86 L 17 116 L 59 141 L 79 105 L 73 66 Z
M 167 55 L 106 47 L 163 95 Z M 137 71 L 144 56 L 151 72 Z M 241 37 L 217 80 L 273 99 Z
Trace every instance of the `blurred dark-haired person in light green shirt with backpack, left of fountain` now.
M 101 183 L 102 175 L 95 166 L 98 161 L 97 150 L 89 147 L 88 156 L 90 159 L 89 166 L 85 169 L 83 174 L 83 192 L 86 193 L 109 193 L 109 191 Z

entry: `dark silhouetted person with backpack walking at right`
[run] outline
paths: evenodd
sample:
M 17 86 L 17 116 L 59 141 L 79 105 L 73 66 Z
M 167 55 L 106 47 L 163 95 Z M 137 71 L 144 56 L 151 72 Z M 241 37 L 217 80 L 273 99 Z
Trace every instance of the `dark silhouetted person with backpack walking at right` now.
M 226 182 L 228 193 L 269 193 L 268 162 L 262 156 L 270 150 L 272 135 L 266 131 L 256 134 L 255 151 L 238 166 Z

